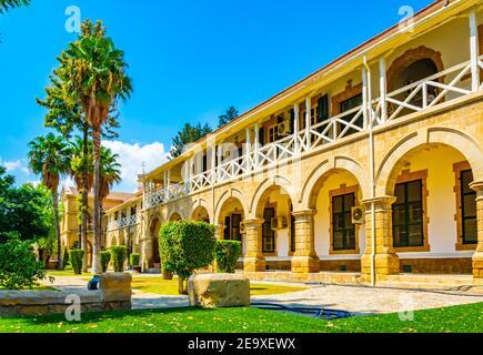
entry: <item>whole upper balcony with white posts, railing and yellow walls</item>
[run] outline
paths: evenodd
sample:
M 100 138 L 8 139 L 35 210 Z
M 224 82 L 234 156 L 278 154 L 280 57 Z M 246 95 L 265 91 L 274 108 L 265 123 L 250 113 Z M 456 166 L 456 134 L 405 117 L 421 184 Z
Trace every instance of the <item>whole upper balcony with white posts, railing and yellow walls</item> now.
M 143 209 L 330 150 L 482 90 L 483 14 L 475 3 L 416 14 L 412 27 L 390 29 L 198 142 L 143 179 Z

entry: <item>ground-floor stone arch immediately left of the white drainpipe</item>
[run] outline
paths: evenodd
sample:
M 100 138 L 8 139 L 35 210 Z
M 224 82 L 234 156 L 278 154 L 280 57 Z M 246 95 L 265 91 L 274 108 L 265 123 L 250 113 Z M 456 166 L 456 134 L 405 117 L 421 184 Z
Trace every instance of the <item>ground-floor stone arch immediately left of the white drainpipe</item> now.
M 299 201 L 303 209 L 315 210 L 319 193 L 314 192 L 319 191 L 323 186 L 324 181 L 338 171 L 348 171 L 354 175 L 361 187 L 363 199 L 370 196 L 370 182 L 368 173 L 362 165 L 352 158 L 335 156 L 333 160 L 325 160 L 320 163 L 309 175 L 302 187 L 301 200 Z

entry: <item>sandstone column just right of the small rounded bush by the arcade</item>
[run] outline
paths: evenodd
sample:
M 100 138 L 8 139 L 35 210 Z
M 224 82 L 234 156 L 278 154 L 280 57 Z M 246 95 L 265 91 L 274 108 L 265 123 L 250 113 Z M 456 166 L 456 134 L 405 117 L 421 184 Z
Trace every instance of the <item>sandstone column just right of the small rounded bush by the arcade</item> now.
M 244 272 L 261 272 L 266 270 L 265 258 L 262 252 L 262 224 L 264 220 L 246 220 L 246 254 L 243 258 Z

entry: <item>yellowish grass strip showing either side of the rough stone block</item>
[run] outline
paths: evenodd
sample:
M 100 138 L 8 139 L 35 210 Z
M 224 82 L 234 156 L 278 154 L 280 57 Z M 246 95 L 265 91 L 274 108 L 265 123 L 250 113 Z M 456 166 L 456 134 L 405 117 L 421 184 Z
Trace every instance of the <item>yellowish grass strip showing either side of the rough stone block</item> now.
M 132 288 L 145 293 L 155 293 L 160 295 L 178 296 L 178 278 L 163 280 L 161 277 L 132 277 Z M 281 285 L 264 285 L 251 284 L 250 294 L 256 295 L 275 295 L 290 292 L 306 290 L 306 287 L 281 286 Z

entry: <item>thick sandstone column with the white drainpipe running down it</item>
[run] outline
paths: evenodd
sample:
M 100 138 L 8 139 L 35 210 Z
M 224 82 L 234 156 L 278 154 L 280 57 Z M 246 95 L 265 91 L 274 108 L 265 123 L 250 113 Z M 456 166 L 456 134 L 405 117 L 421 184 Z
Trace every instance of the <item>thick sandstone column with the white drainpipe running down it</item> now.
M 394 196 L 380 196 L 364 200 L 365 207 L 365 251 L 361 258 L 361 273 L 365 281 L 371 281 L 371 253 L 372 253 L 372 214 L 374 203 L 374 231 L 375 231 L 375 278 L 383 280 L 384 275 L 399 274 L 399 257 L 393 247 L 392 239 L 392 204 Z

